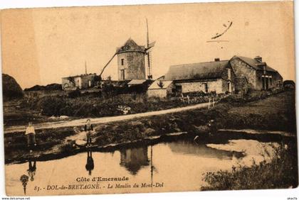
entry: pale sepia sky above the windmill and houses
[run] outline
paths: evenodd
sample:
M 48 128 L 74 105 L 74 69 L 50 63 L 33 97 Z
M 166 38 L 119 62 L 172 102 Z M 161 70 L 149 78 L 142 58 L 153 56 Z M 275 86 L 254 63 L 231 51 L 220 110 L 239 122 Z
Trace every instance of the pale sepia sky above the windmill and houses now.
M 234 55 L 256 57 L 295 80 L 293 2 L 87 6 L 1 11 L 2 72 L 24 89 L 61 83 L 61 77 L 97 73 L 117 47 L 132 38 L 146 44 L 146 18 L 152 74 L 169 66 L 208 62 Z M 232 26 L 216 40 L 229 21 Z M 117 79 L 114 58 L 103 78 Z

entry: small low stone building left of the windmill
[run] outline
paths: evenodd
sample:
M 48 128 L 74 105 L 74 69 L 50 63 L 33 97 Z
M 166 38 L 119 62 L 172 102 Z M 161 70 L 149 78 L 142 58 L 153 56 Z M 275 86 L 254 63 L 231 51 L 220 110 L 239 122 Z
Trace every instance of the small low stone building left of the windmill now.
M 72 89 L 87 89 L 90 87 L 95 87 L 98 84 L 97 74 L 80 74 L 73 77 L 63 77 L 62 78 L 62 89 L 72 90 Z

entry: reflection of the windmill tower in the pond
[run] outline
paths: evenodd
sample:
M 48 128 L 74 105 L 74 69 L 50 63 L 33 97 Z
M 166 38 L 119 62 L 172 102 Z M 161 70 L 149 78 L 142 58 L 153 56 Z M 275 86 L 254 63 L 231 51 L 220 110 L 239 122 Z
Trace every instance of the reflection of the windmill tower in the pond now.
M 147 147 L 120 150 L 120 165 L 131 174 L 137 174 L 142 167 L 150 165 Z

